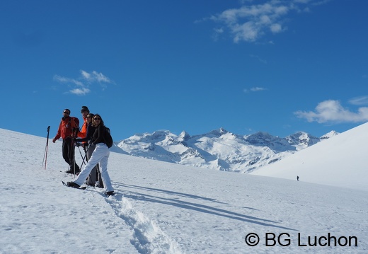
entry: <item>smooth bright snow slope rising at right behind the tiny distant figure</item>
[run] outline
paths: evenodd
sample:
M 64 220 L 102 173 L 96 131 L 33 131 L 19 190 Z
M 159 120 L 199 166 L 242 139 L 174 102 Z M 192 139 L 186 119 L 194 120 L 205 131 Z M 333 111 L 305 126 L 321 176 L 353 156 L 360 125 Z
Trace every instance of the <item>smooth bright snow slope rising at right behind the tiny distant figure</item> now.
M 368 123 L 298 151 L 253 175 L 368 190 Z

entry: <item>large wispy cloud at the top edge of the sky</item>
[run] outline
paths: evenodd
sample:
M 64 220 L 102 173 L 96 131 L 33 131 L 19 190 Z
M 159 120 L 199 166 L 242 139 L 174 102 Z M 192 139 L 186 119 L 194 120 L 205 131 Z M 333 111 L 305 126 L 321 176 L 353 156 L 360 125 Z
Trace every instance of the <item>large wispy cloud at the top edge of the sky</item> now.
M 284 23 L 290 11 L 298 13 L 309 10 L 309 6 L 325 4 L 328 1 L 321 0 L 269 0 L 265 4 L 253 4 L 251 1 L 242 1 L 240 8 L 230 8 L 217 15 L 203 20 L 212 20 L 225 25 L 231 33 L 234 42 L 241 41 L 255 42 L 260 37 L 268 33 L 281 33 L 287 28 Z M 248 4 L 248 5 L 247 5 Z M 221 31 L 221 33 L 217 33 Z M 224 29 L 215 30 L 214 37 L 219 37 L 224 33 Z

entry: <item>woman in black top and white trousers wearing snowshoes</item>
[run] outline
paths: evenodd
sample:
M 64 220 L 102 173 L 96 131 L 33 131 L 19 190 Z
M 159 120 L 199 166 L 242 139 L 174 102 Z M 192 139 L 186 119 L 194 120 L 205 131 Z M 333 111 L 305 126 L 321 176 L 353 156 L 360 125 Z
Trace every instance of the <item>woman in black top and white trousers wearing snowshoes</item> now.
M 110 156 L 110 151 L 108 146 L 105 144 L 105 132 L 107 129 L 103 124 L 102 117 L 98 114 L 93 116 L 93 122 L 96 127 L 95 133 L 91 139 L 91 144 L 96 145 L 96 149 L 93 151 L 91 158 L 86 163 L 84 169 L 79 173 L 78 177 L 74 182 L 68 182 L 67 186 L 79 188 L 86 180 L 89 173 L 91 173 L 92 168 L 100 163 L 100 173 L 105 187 L 105 195 L 114 195 L 114 189 L 111 185 L 110 175 L 108 174 L 108 157 Z

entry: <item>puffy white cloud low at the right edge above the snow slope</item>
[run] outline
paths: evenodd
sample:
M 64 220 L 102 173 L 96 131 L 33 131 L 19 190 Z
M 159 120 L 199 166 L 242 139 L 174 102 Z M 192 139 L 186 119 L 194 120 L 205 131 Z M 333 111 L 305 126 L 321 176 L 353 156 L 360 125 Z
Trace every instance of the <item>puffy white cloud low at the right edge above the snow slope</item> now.
M 299 110 L 294 114 L 299 118 L 305 118 L 308 122 L 365 122 L 368 120 L 368 107 L 358 108 L 357 112 L 352 112 L 343 108 L 338 100 L 325 100 L 318 103 L 314 111 Z

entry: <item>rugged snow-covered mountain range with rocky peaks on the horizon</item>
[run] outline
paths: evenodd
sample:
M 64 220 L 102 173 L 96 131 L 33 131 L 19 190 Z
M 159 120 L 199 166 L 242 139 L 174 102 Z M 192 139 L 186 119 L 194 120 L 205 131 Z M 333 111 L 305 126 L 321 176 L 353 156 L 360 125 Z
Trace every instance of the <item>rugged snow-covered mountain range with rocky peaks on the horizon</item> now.
M 220 128 L 190 136 L 188 132 L 176 135 L 161 130 L 151 134 L 135 134 L 118 142 L 117 146 L 132 156 L 219 171 L 249 173 L 337 134 L 330 132 L 318 138 L 297 132 L 280 138 L 266 132 L 243 136 Z

